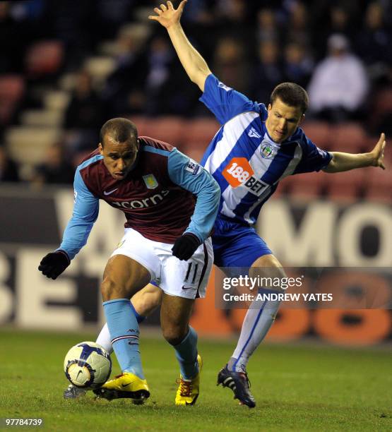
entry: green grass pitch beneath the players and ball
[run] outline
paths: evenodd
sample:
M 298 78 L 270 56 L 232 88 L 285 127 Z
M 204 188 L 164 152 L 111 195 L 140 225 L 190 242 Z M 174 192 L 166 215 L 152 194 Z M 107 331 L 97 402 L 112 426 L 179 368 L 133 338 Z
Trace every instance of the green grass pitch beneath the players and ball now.
M 64 400 L 66 351 L 94 335 L 0 331 L 0 417 L 44 419 L 48 431 L 391 431 L 391 350 L 263 344 L 249 364 L 255 409 L 216 387 L 234 342 L 199 340 L 204 367 L 194 407 L 175 407 L 178 367 L 160 338 L 141 342 L 151 397 Z M 119 373 L 114 361 L 114 373 Z M 27 427 L 24 427 L 26 429 Z M 15 429 L 15 428 L 13 428 Z

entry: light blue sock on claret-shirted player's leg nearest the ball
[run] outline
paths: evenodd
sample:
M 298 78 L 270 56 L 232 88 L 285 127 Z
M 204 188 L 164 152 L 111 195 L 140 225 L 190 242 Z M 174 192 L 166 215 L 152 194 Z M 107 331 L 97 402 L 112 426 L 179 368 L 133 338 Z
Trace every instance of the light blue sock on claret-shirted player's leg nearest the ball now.
M 104 301 L 103 308 L 112 345 L 123 372 L 144 379 L 139 351 L 139 326 L 129 299 Z

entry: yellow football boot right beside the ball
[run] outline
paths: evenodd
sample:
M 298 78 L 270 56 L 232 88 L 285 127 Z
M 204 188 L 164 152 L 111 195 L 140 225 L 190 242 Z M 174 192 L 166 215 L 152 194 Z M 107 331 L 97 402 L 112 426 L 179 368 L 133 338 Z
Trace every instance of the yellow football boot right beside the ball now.
M 113 380 L 107 381 L 102 387 L 94 390 L 95 395 L 107 400 L 130 397 L 133 403 L 143 403 L 150 397 L 150 389 L 146 380 L 142 380 L 131 372 L 124 372 Z

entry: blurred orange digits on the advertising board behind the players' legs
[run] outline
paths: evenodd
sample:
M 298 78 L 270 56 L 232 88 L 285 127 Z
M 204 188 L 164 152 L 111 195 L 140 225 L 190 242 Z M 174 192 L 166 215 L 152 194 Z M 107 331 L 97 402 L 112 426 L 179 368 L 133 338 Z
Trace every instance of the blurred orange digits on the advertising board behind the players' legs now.
M 208 283 L 206 299 L 196 301 L 194 315 L 191 318 L 193 325 L 200 335 L 227 337 L 233 332 L 239 332 L 247 309 L 233 308 L 229 311 L 215 307 L 215 272 Z M 347 295 L 342 278 L 334 275 L 326 275 L 320 281 L 320 287 L 336 295 Z M 366 275 L 348 272 L 344 283 L 360 287 L 375 284 L 378 288 L 378 299 L 387 301 L 390 289 L 388 282 L 378 275 L 367 277 Z M 369 301 L 374 299 L 369 298 Z M 312 334 L 327 342 L 335 344 L 369 345 L 387 340 L 391 335 L 391 311 L 388 309 L 355 308 L 355 296 L 347 299 L 352 308 L 347 309 L 309 309 L 304 304 L 300 308 L 280 308 L 267 340 L 289 341 L 298 340 L 301 337 Z

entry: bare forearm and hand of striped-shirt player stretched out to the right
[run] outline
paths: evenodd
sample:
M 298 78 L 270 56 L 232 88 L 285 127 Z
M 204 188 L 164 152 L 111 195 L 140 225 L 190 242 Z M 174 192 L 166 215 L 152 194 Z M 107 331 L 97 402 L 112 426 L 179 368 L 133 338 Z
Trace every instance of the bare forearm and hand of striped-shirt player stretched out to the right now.
M 323 169 L 324 172 L 342 172 L 349 169 L 363 167 L 380 167 L 385 169 L 384 165 L 384 148 L 386 145 L 385 133 L 381 133 L 380 139 L 369 153 L 350 153 L 331 152 L 332 160 L 328 166 Z

